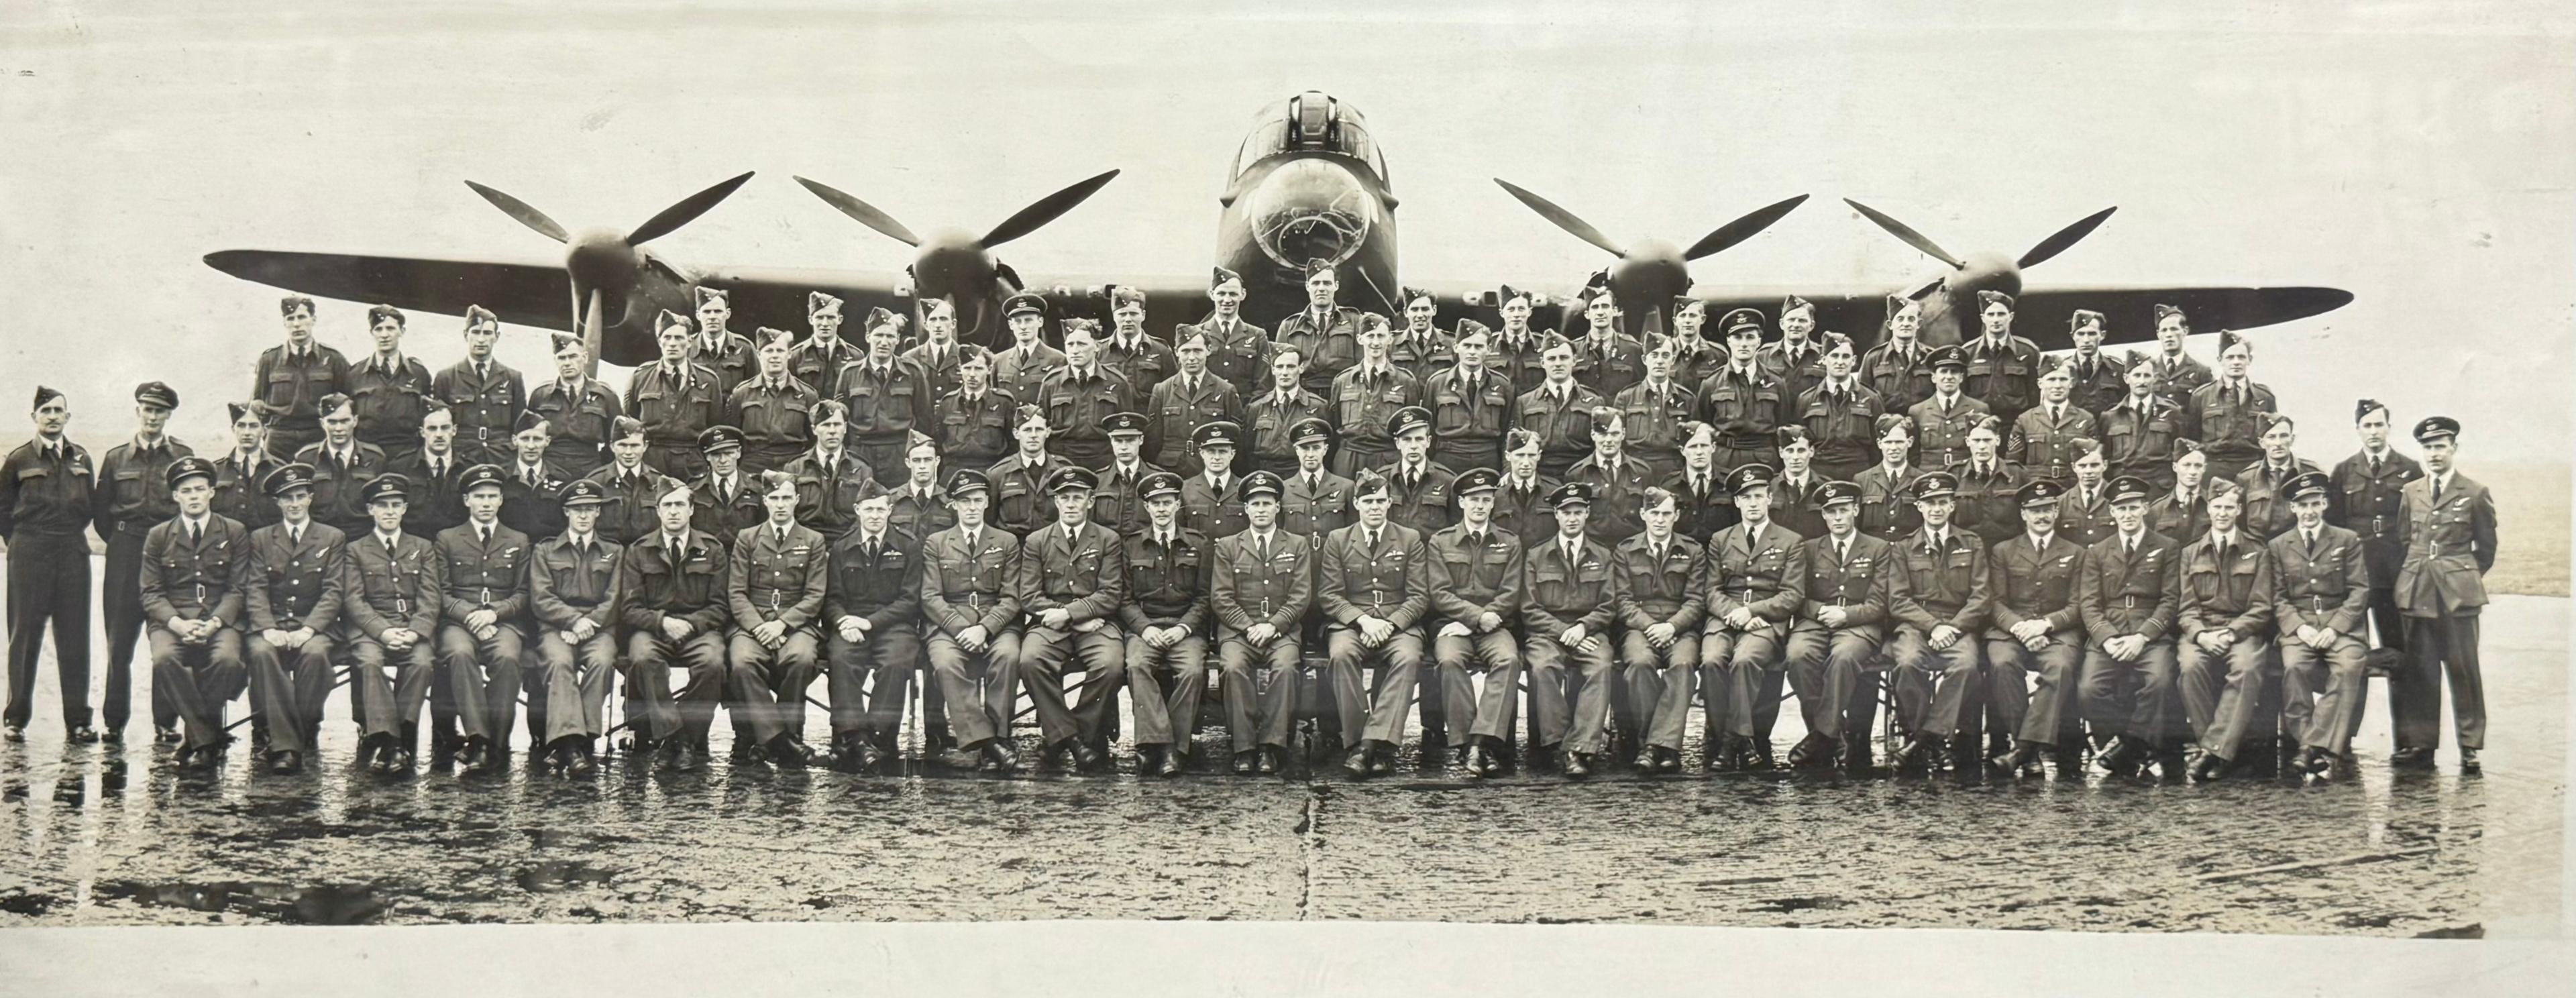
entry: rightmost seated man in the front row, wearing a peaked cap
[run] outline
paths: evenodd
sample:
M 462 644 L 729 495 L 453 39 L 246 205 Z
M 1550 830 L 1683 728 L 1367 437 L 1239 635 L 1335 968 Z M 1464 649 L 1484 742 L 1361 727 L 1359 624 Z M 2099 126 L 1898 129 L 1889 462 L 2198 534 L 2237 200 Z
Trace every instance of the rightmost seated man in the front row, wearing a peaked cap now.
M 2298 769 L 2329 774 L 2352 759 L 2370 697 L 2370 566 L 2362 538 L 2326 522 L 2334 484 L 2308 471 L 2290 478 L 2298 522 L 2272 538 L 2272 615 L 2280 625 L 2280 725 L 2298 738 Z

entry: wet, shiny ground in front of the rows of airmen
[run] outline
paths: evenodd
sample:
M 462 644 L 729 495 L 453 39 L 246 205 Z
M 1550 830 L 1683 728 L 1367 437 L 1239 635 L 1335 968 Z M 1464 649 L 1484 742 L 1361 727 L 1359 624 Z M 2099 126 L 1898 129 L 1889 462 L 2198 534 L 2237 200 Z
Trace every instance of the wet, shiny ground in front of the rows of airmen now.
M 1445 918 L 2478 936 L 2555 931 L 2566 602 L 2486 628 L 2483 777 L 1633 777 L 1352 785 L 716 764 L 598 779 L 180 777 L 0 746 L 0 926 Z M 46 692 L 49 694 L 49 692 Z M 144 702 L 137 697 L 137 702 Z M 345 700 L 335 700 L 345 710 Z M 1783 718 L 1783 743 L 1795 738 Z M 819 723 L 819 712 L 817 712 Z M 721 741 L 719 725 L 719 741 Z M 1698 759 L 1698 746 L 1690 746 Z M 2540 929 L 2535 929 L 2540 926 Z

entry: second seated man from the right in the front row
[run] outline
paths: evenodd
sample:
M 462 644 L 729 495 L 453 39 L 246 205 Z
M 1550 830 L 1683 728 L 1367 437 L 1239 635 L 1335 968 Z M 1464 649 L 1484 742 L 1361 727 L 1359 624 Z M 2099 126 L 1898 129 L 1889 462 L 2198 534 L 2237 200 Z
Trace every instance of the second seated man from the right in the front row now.
M 2249 738 L 2269 743 L 2269 718 L 2254 728 L 2272 669 L 2272 558 L 2264 538 L 2239 532 L 2244 489 L 2210 489 L 2210 532 L 2182 548 L 2174 566 L 2174 684 L 2200 736 L 2192 779 L 2218 779 Z

